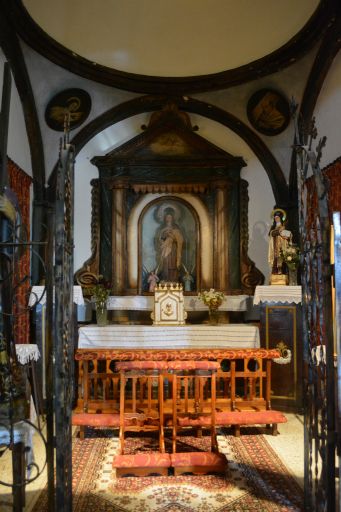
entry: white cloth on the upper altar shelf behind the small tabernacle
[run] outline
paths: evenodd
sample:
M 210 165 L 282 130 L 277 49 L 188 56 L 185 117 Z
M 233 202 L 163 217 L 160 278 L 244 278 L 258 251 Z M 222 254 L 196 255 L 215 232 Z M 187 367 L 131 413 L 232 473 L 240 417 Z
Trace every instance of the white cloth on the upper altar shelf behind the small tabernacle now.
M 227 295 L 219 311 L 246 311 L 248 295 Z M 184 297 L 186 311 L 207 311 L 208 307 L 196 296 Z M 153 311 L 153 295 L 111 296 L 107 300 L 107 308 L 114 310 Z

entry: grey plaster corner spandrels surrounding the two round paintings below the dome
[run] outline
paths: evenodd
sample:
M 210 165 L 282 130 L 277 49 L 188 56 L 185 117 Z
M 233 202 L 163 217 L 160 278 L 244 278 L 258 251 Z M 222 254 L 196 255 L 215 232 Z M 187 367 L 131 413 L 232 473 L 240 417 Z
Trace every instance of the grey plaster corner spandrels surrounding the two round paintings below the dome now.
M 108 87 L 76 76 L 70 71 L 49 62 L 29 48 L 25 43 L 22 42 L 21 45 L 32 81 L 34 96 L 36 98 L 44 145 L 46 179 L 48 179 L 58 158 L 59 139 L 61 136 L 60 132 L 56 132 L 47 126 L 44 118 L 45 108 L 55 94 L 71 87 L 84 88 L 90 94 L 92 100 L 92 109 L 86 123 L 95 119 L 98 115 L 113 106 L 140 95 Z M 246 114 L 246 105 L 250 96 L 261 88 L 269 87 L 284 94 L 288 100 L 294 97 L 295 100 L 300 103 L 316 51 L 317 47 L 312 49 L 309 54 L 300 59 L 297 63 L 293 63 L 289 68 L 273 73 L 262 79 L 226 90 L 193 96 L 230 112 L 253 129 L 249 124 Z M 83 126 L 72 130 L 70 134 L 71 138 L 73 138 L 82 127 Z M 257 135 L 269 147 L 282 167 L 286 179 L 288 179 L 290 158 L 288 158 L 287 148 L 293 143 L 292 123 L 278 136 L 268 137 L 260 133 L 257 133 Z

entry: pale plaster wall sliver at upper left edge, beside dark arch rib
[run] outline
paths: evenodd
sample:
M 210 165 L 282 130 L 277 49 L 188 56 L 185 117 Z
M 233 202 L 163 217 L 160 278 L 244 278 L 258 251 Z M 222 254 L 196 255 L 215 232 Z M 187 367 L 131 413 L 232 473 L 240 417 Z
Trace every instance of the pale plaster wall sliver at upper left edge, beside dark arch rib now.
M 2 95 L 4 63 L 6 58 L 0 49 L 0 91 Z M 31 154 L 26 133 L 25 119 L 19 94 L 12 77 L 11 104 L 8 126 L 8 156 L 21 167 L 26 174 L 32 176 Z

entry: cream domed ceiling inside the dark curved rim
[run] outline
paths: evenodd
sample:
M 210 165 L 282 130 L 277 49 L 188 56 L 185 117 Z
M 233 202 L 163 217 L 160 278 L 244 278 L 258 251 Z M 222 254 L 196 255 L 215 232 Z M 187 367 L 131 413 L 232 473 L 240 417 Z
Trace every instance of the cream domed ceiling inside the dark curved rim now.
M 292 43 L 319 1 L 24 0 L 23 5 L 53 40 L 94 65 L 150 77 L 198 77 L 245 66 Z

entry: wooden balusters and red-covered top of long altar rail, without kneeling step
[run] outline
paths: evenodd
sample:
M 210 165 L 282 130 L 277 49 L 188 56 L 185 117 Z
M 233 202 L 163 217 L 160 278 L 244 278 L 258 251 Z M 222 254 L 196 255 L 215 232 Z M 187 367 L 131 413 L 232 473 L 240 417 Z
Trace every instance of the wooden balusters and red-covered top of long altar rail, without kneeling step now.
M 271 361 L 279 357 L 278 350 L 226 349 L 226 350 L 85 350 L 76 352 L 79 365 L 77 412 L 119 412 L 119 380 L 115 361 L 122 360 L 214 360 L 221 363 L 217 373 L 217 408 L 221 411 L 271 409 Z M 156 376 L 157 379 L 157 376 Z M 164 378 L 165 412 L 172 408 L 172 375 Z M 139 376 L 134 387 L 139 408 L 157 407 L 157 390 L 146 386 Z M 204 389 L 204 401 L 210 400 Z

